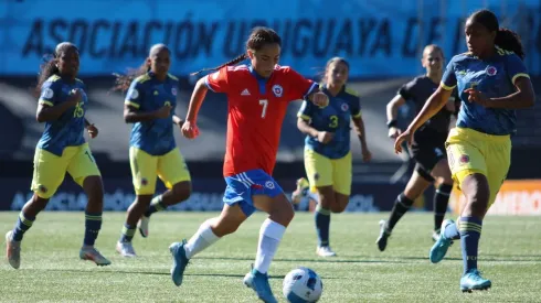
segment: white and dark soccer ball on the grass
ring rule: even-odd
[[[309,268],[294,269],[284,279],[284,296],[290,303],[317,302],[322,291],[321,279]]]

